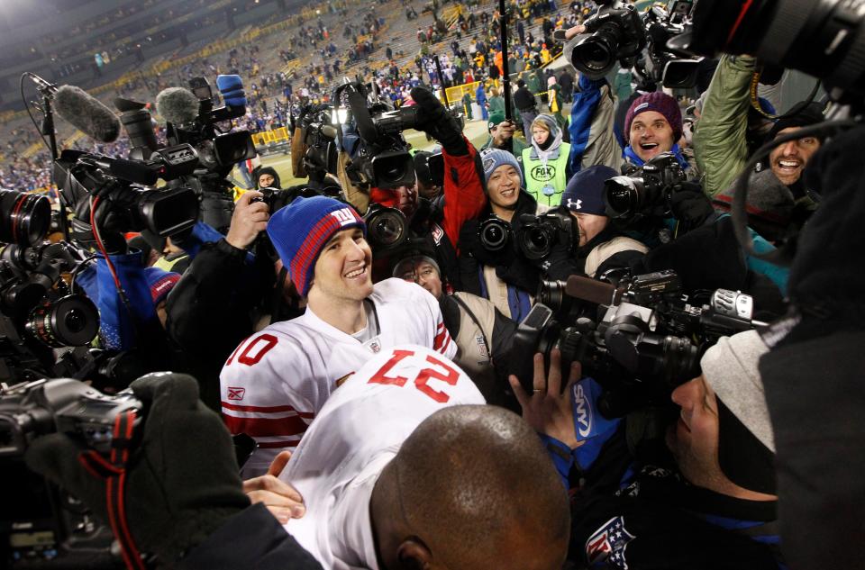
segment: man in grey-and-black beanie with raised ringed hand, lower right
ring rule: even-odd
[[[767,350],[755,330],[709,348],[700,362],[703,375],[679,385],[671,396],[681,409],[667,436],[676,471],[634,465],[618,493],[598,486],[581,489],[572,502],[572,561],[637,569],[774,570],[782,564],[775,526],[775,443],[757,370]],[[605,453],[611,451],[594,439],[612,441],[615,430],[580,435],[583,426],[606,420],[596,416],[596,402],[582,404],[587,417],[580,419],[571,404],[580,368],[574,365],[560,394],[559,366],[554,352],[544,375],[543,360],[536,357],[533,394],[513,375],[511,386],[526,421],[546,434],[542,438],[560,475],[567,478],[573,466],[591,474],[593,466],[610,460]]]

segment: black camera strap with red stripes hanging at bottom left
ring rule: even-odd
[[[144,570],[141,552],[135,546],[126,522],[126,465],[129,462],[134,423],[134,410],[123,412],[114,418],[110,459],[105,459],[96,450],[90,450],[79,455],[78,460],[90,475],[105,480],[108,523],[114,538],[120,543],[123,562],[130,570]]]

